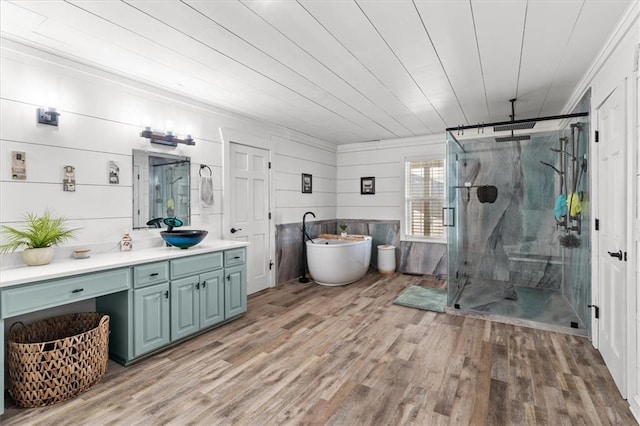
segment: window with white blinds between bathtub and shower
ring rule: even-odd
[[[444,239],[442,208],[446,201],[444,159],[412,160],[405,163],[405,235]]]

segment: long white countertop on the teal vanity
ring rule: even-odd
[[[177,259],[197,254],[246,247],[248,245],[249,243],[241,241],[217,240],[198,244],[185,250],[177,247],[157,247],[142,250],[136,250],[134,248],[131,251],[94,254],[88,259],[61,260],[43,266],[21,266],[0,270],[0,288],[141,263]]]

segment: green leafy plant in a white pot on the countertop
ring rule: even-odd
[[[7,242],[0,245],[0,252],[7,253],[25,247],[22,260],[29,266],[51,263],[53,246],[73,238],[79,229],[69,228],[66,218],[55,217],[49,209],[42,216],[26,213],[24,220],[26,224],[23,230],[2,226]]]

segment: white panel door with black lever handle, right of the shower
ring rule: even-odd
[[[598,109],[598,345],[618,390],[626,398],[626,139],[624,88]]]

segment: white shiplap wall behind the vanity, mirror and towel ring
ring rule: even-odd
[[[18,224],[24,212],[47,206],[70,218],[82,230],[57,257],[79,246],[116,250],[122,232],[132,228],[133,149],[191,157],[192,227],[209,230],[208,238],[224,237],[224,135],[233,132],[221,129],[242,129],[235,142],[270,141],[276,224],[298,221],[308,207],[316,207],[321,218],[335,217],[333,145],[13,41],[2,40],[1,55],[0,224]],[[36,109],[52,102],[61,113],[60,126],[37,124]],[[148,120],[156,130],[166,130],[171,121],[175,133],[188,130],[196,145],[152,146],[139,136]],[[12,151],[26,153],[26,181],[11,179]],[[119,163],[118,185],[108,183],[109,160]],[[209,165],[214,176],[216,203],[207,212],[197,202],[200,164]],[[62,190],[64,165],[76,167],[76,192]],[[314,175],[310,196],[300,193],[301,173]],[[161,244],[155,230],[136,230],[132,237],[134,248]],[[15,254],[0,260],[2,267],[21,263]]]

